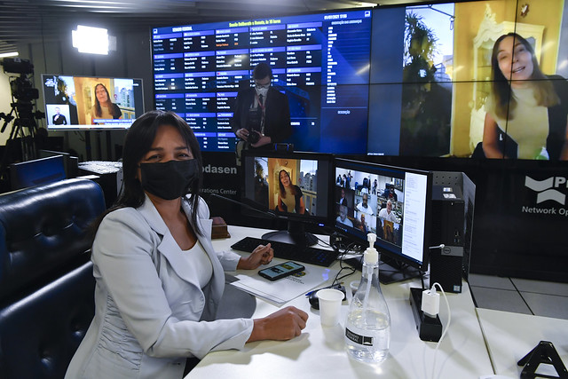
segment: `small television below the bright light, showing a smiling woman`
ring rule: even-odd
[[[144,113],[141,79],[42,74],[48,130],[128,129]]]

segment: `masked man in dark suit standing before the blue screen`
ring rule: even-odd
[[[272,69],[259,63],[253,71],[255,87],[239,91],[233,107],[231,127],[237,138],[237,157],[243,148],[258,148],[290,137],[288,98],[271,86]]]

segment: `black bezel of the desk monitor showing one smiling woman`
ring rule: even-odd
[[[246,197],[247,191],[245,190],[247,187],[246,183],[246,168],[245,162],[248,158],[254,157],[266,157],[266,158],[289,158],[289,159],[297,159],[297,160],[312,160],[323,162],[327,165],[327,170],[329,175],[327,175],[325,191],[327,192],[327,207],[326,212],[327,215],[325,217],[313,216],[313,215],[298,215],[296,213],[284,213],[280,211],[276,211],[275,209],[270,209],[270,207],[266,207],[262,204],[259,204],[252,199]],[[301,222],[305,225],[319,225],[319,226],[331,226],[331,212],[333,210],[332,203],[330,200],[330,191],[332,185],[332,175],[331,170],[333,170],[333,154],[327,153],[312,153],[312,152],[280,152],[274,150],[263,150],[263,149],[248,149],[242,151],[241,156],[241,175],[240,175],[240,182],[241,182],[241,202],[253,209],[260,210],[265,212],[271,217],[280,218],[280,219],[288,219],[291,222]],[[318,192],[321,189],[318,187]]]

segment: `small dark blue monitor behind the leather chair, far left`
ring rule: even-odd
[[[63,161],[63,155],[55,155],[13,163],[10,165],[12,190],[46,185],[67,178]]]

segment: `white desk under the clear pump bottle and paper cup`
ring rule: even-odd
[[[230,245],[246,236],[261,236],[262,229],[230,226],[232,238],[214,241],[218,250],[230,249]],[[338,265],[338,264],[335,264]],[[338,268],[338,267],[336,267]],[[350,280],[359,280],[356,272]],[[331,283],[328,283],[331,284]],[[430,379],[432,358],[436,343],[420,340],[408,301],[409,288],[420,287],[418,280],[382,286],[390,309],[390,356],[381,366],[362,364],[347,357],[343,350],[344,316],[348,306],[342,306],[341,326],[322,328],[319,311],[310,307],[305,296],[297,297],[287,305],[308,312],[310,319],[301,336],[287,342],[262,341],[247,343],[243,351],[215,351],[209,353],[187,375],[195,378],[413,378]],[[436,378],[478,378],[493,374],[493,368],[469,287],[464,283],[463,293],[448,295],[452,309],[452,325],[438,349]],[[446,304],[440,302],[440,317],[446,324]],[[256,299],[253,318],[266,316],[279,308]],[[371,376],[373,375],[373,376]]]

